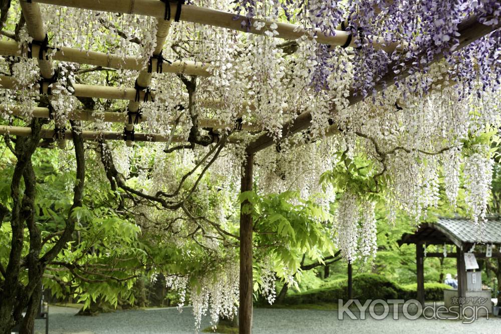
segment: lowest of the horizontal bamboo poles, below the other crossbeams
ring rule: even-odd
[[[9,125],[0,125],[0,135],[11,135],[11,136],[30,136],[32,133],[32,129],[29,127],[19,127],[19,126],[9,126]],[[90,131],[83,130],[82,136],[86,140],[124,140],[123,133],[115,132],[115,131]],[[54,138],[55,131],[50,129],[42,129],[41,131],[42,138]],[[72,139],[72,133],[70,130],[65,131],[65,139]],[[168,142],[168,135],[160,135],[160,134],[150,134],[150,133],[135,133],[134,141],[138,142]],[[229,137],[226,140],[230,144],[240,143],[240,138]],[[172,142],[182,143],[185,142],[179,136],[173,136]]]

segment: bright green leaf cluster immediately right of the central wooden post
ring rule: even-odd
[[[255,222],[256,257],[272,258],[278,277],[298,272],[304,254],[314,261],[322,261],[324,253],[333,254],[328,229],[332,215],[313,201],[301,199],[298,192],[260,196],[247,191],[239,195],[239,200],[243,212],[251,214]],[[258,289],[260,268],[256,270]]]

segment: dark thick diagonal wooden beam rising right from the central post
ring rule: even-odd
[[[495,31],[497,28],[499,28],[499,26],[501,26],[501,24],[499,24],[497,27],[482,25],[477,21],[476,17],[470,17],[465,19],[458,25],[458,33],[460,34],[460,36],[458,37],[459,46],[457,47],[456,50],[459,50],[469,45],[470,43],[482,38],[483,36],[491,33],[492,31]],[[443,54],[436,55],[430,64],[435,63],[441,59],[443,59]],[[395,74],[393,72],[392,70],[393,65],[394,64],[392,63],[388,66],[389,70],[388,73],[374,87],[378,92],[382,91],[385,87],[389,87],[395,84],[394,79],[397,77],[398,74]],[[407,68],[409,68],[410,66],[411,64],[406,64]],[[408,77],[409,75],[410,74],[408,72],[405,72],[401,73],[400,77],[403,79]],[[350,93],[350,96],[348,97],[348,106],[353,106],[364,99],[361,94],[355,94],[355,93],[356,92]],[[336,109],[333,108],[331,110],[331,113],[335,112]],[[282,126],[281,140],[295,133],[298,133],[299,131],[310,128],[311,122],[312,122],[312,115],[309,112],[303,113],[299,115],[296,119],[286,122]],[[267,147],[270,147],[274,143],[275,143],[274,139],[270,137],[269,134],[264,134],[248,145],[247,152],[257,153],[261,150],[264,150]]]

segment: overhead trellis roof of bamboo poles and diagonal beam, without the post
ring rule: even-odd
[[[95,11],[113,12],[113,13],[123,13],[123,14],[137,14],[145,15],[157,18],[158,33],[157,33],[157,47],[154,54],[158,54],[163,47],[163,42],[168,33],[168,28],[170,27],[170,22],[165,22],[163,20],[163,13],[165,10],[165,4],[159,0],[86,0],[85,2],[79,0],[34,0],[34,2],[27,2],[26,0],[20,0],[21,7],[23,10],[23,15],[27,21],[27,28],[30,36],[35,40],[42,40],[45,38],[45,28],[43,20],[40,13],[40,8],[37,3],[44,3],[50,5],[59,5],[65,7],[81,8]],[[171,11],[175,12],[176,4],[171,3]],[[255,30],[254,27],[247,31],[246,27],[242,27],[239,20],[234,20],[234,14],[217,11],[208,8],[197,7],[193,5],[183,5],[182,12],[180,15],[180,20],[185,22],[197,23],[202,25],[209,25],[214,27],[226,28],[234,31],[248,32],[252,34],[263,34],[263,30]],[[272,22],[266,22],[267,25],[271,25]],[[276,23],[279,32],[278,37],[286,40],[295,40],[305,35],[306,31],[299,26],[286,24],[286,23]],[[468,45],[469,43],[485,36],[491,31],[495,30],[497,27],[487,27],[477,22],[476,18],[469,18],[463,21],[459,25],[460,33],[460,45],[459,48]],[[344,45],[348,38],[349,33],[345,31],[337,31],[335,36],[325,36],[320,31],[317,32],[317,41],[323,44],[329,44],[331,46],[342,46]],[[387,44],[380,38],[375,38],[376,48],[381,48],[385,51],[392,51],[397,47],[396,43]],[[350,46],[356,46],[356,37],[351,41]],[[34,45],[34,52],[37,52],[38,46]],[[5,56],[18,56],[23,57],[26,55],[26,47],[16,43],[16,42],[0,42],[0,55]],[[437,56],[434,61],[438,61],[443,58],[443,55]],[[61,50],[56,51],[53,56],[54,60],[62,60],[68,62],[76,62],[79,64],[88,64],[94,66],[103,66],[109,68],[124,68],[130,70],[141,71],[138,76],[138,83],[149,84],[151,79],[151,73],[146,73],[144,67],[140,62],[140,58],[137,57],[119,57],[117,55],[108,55],[100,52],[87,52],[80,51],[75,48],[61,48]],[[153,59],[153,62],[155,60]],[[173,61],[172,65],[165,66],[165,72],[172,73],[184,73],[188,75],[199,75],[199,76],[209,76],[210,75],[210,64],[202,64],[189,61]],[[153,63],[154,64],[154,63]],[[44,78],[49,77],[49,73],[52,75],[53,69],[50,61],[39,60],[39,65],[41,68],[41,74]],[[155,66],[153,66],[155,68]],[[408,74],[404,74],[404,77]],[[396,77],[392,71],[390,71],[380,83],[376,86],[378,91],[383,89],[383,82],[387,85],[393,84],[393,79]],[[0,77],[0,85],[7,89],[15,89],[14,82],[12,78]],[[44,84],[48,85],[48,84]],[[146,85],[145,85],[146,86]],[[139,107],[138,103],[135,102],[136,90],[132,88],[115,88],[115,87],[104,87],[104,86],[92,86],[92,85],[81,85],[75,84],[75,95],[80,97],[90,97],[90,98],[106,98],[106,99],[123,99],[129,100],[129,110],[136,111]],[[42,87],[44,93],[47,92],[47,87]],[[144,98],[144,92],[140,93],[140,98]],[[355,96],[350,94],[348,97],[349,105],[354,105],[362,100],[360,95]],[[204,102],[201,103],[201,107],[204,107]],[[220,104],[215,101],[206,101],[206,108],[216,108]],[[253,109],[252,104],[242,102],[242,106],[249,106]],[[286,111],[290,108],[285,104]],[[333,110],[334,112],[335,110]],[[82,113],[80,113],[82,115]],[[123,115],[123,114],[122,114]],[[82,116],[83,117],[83,116]],[[105,118],[115,119],[115,116],[109,116],[105,113]],[[285,139],[292,134],[299,131],[306,130],[311,126],[311,114],[303,113],[297,118],[285,123],[282,128],[282,138]],[[203,120],[202,123],[214,124],[209,120]],[[221,127],[226,127],[227,124],[220,125]],[[215,127],[218,127],[215,124]],[[252,127],[247,127],[245,130],[250,130]],[[256,128],[252,128],[256,129]],[[336,125],[330,126],[327,129],[327,135],[338,133]],[[250,143],[247,147],[247,153],[254,154],[260,150],[263,150],[274,144],[274,140],[268,135],[263,134],[261,137],[257,138],[255,141]]]

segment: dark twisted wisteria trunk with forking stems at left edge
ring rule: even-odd
[[[32,333],[35,317],[40,307],[42,293],[42,276],[47,264],[70,241],[75,229],[75,218],[71,212],[82,205],[82,193],[85,179],[84,143],[79,125],[71,122],[75,156],[77,161],[77,180],[74,187],[73,205],[66,219],[66,226],[60,239],[42,257],[41,232],[35,224],[36,176],[32,165],[32,156],[40,143],[40,132],[43,120],[34,118],[31,123],[30,137],[20,137],[11,150],[16,155],[17,162],[11,182],[11,252],[9,263],[2,270],[4,280],[0,281],[0,334],[10,334],[12,328],[20,325],[20,334]],[[24,189],[22,187],[24,181]],[[5,216],[2,208],[2,218]],[[29,232],[29,253],[22,257],[25,226]],[[20,281],[20,272],[28,269],[28,283]],[[3,268],[2,268],[3,269]],[[26,315],[23,317],[23,311]]]

